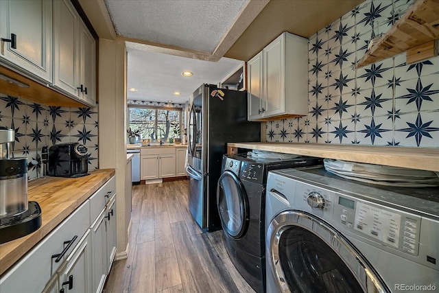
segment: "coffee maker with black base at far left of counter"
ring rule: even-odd
[[[15,132],[0,126],[0,244],[36,231],[41,209],[27,201],[27,159],[11,156]]]

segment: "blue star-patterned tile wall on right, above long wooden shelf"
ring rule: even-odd
[[[368,0],[311,36],[309,113],[267,122],[267,141],[438,147],[439,57],[353,66],[412,3]]]

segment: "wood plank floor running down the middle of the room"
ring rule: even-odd
[[[254,292],[189,213],[188,181],[134,185],[128,259],[112,265],[104,292]]]

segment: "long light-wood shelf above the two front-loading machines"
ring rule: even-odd
[[[228,154],[246,148],[439,172],[439,148],[320,143],[227,143],[227,148]]]

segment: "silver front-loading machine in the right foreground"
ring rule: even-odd
[[[268,173],[267,292],[439,288],[439,189],[383,187],[323,167]]]

